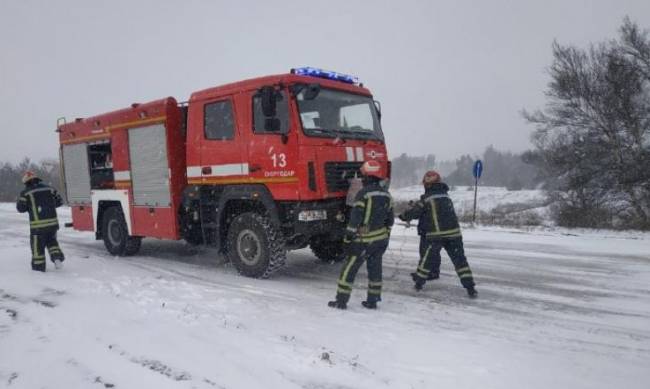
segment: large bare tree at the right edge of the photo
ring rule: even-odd
[[[554,42],[553,58],[547,105],[524,116],[536,125],[536,160],[563,193],[565,224],[593,226],[596,213],[650,228],[648,32],[626,18],[618,41]]]

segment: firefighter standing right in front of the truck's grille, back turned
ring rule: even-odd
[[[388,247],[390,229],[393,226],[393,200],[381,185],[381,165],[377,161],[366,161],[361,165],[363,188],[357,193],[350,221],[345,231],[347,260],[341,270],[336,291],[336,300],[328,305],[346,309],[357,271],[366,261],[368,269],[368,297],[361,304],[376,309],[381,301],[382,255]]]

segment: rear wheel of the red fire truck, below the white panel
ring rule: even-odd
[[[142,238],[129,236],[124,214],[119,207],[110,207],[102,216],[104,246],[112,255],[134,255],[140,250]]]

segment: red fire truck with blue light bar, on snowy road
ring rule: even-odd
[[[144,237],[215,246],[256,278],[287,250],[340,260],[351,179],[369,159],[390,175],[380,119],[356,77],[310,67],[60,119],[71,225],[117,256]]]

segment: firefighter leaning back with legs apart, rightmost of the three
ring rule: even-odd
[[[449,187],[440,182],[440,174],[434,170],[424,174],[422,184],[424,194],[420,200],[398,216],[405,222],[419,219],[420,262],[416,271],[411,273],[415,289],[422,290],[427,280],[440,277],[440,250],[444,248],[468,296],[477,297],[472,270],[463,250],[463,236],[454,204],[447,193]]]

